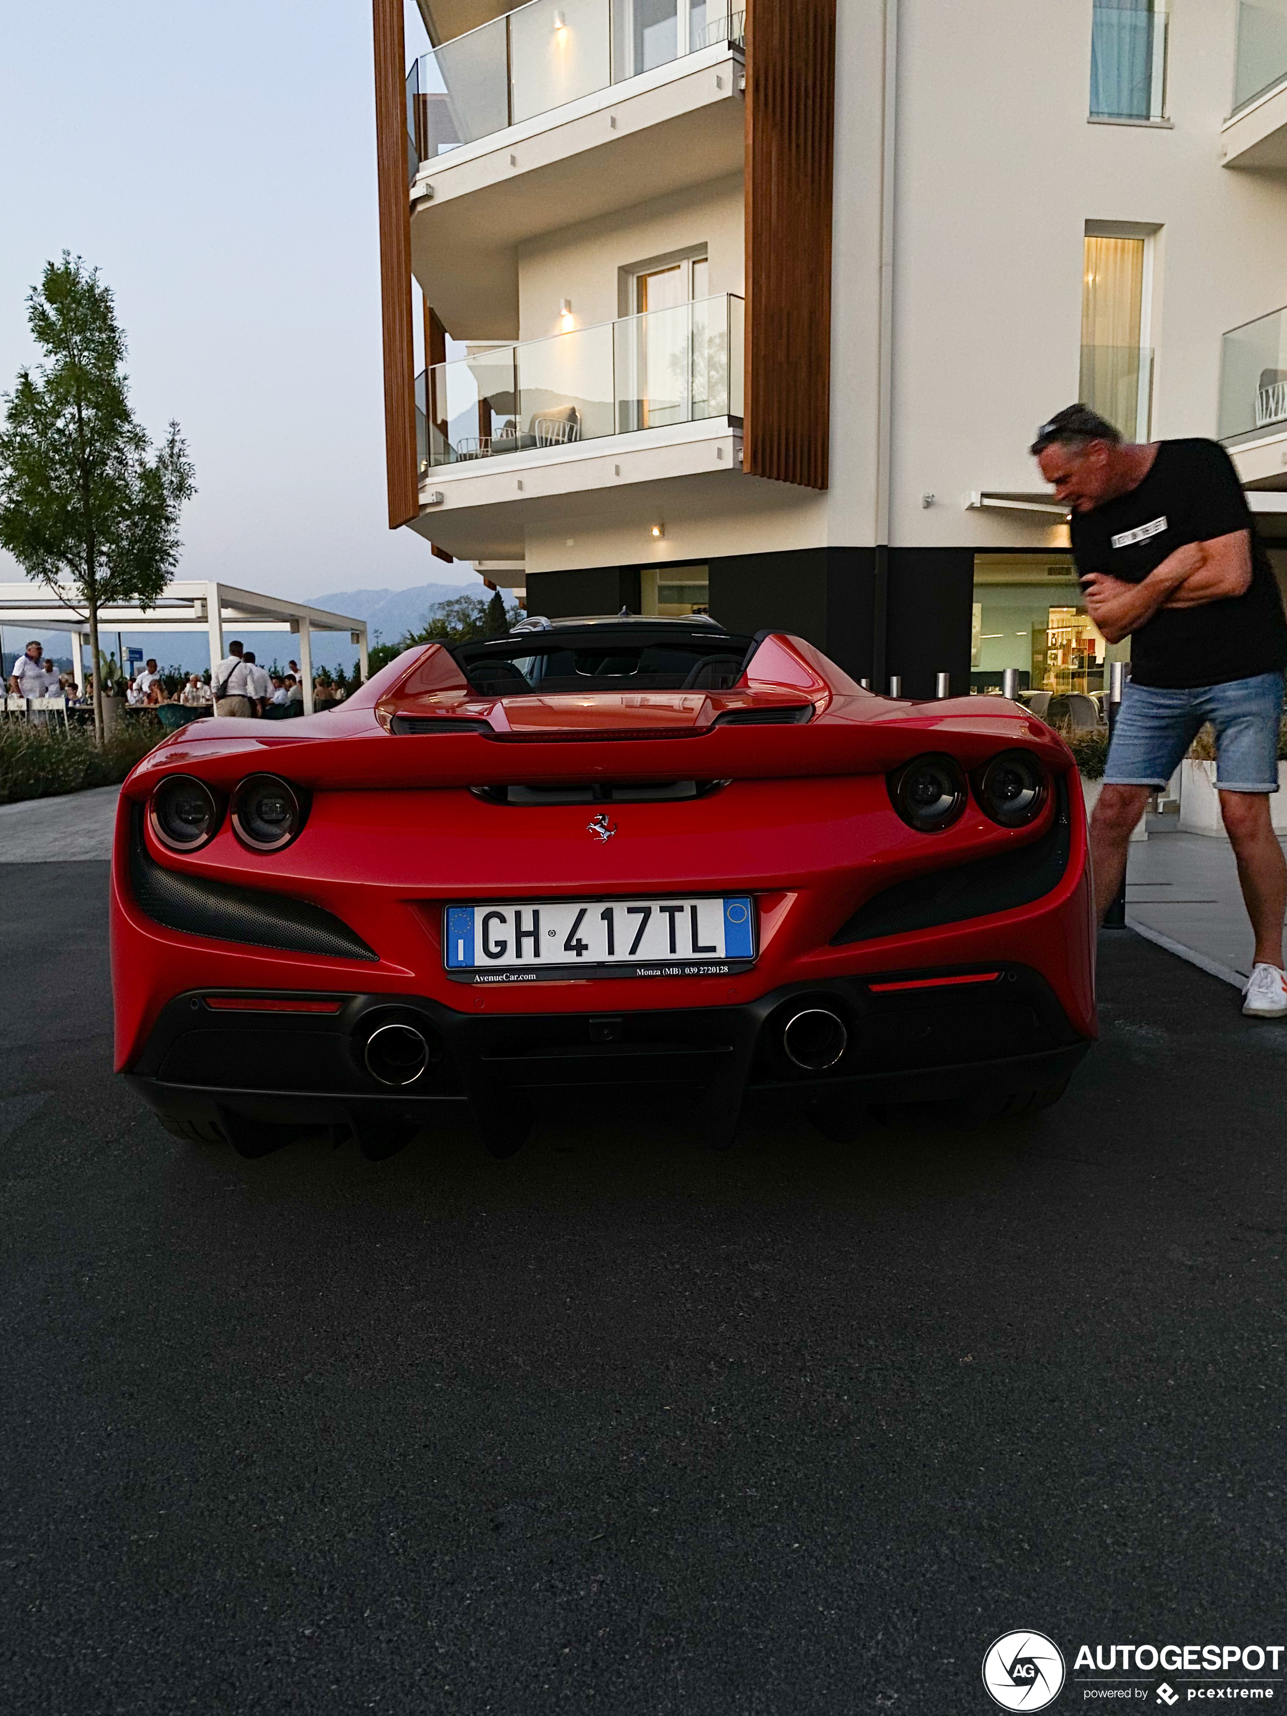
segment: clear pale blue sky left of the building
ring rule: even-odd
[[[0,19],[0,390],[34,357],[29,287],[79,252],[115,290],[142,424],[177,417],[196,462],[178,577],[468,578],[386,523],[369,0]]]

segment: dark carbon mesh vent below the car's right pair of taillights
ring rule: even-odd
[[[832,935],[831,946],[870,942],[877,935],[906,935],[909,930],[932,930],[939,923],[983,918],[990,911],[1031,906],[1059,885],[1071,849],[1067,788],[1059,781],[1054,827],[1040,841],[999,858],[976,858],[951,870],[932,870],[909,882],[896,882],[863,901]]]

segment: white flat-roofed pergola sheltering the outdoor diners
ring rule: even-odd
[[[84,645],[89,619],[84,607],[41,583],[0,583],[0,625],[27,626],[41,631],[72,633],[72,671],[84,688]],[[333,614],[285,595],[259,595],[233,583],[180,578],[166,583],[153,607],[139,602],[113,602],[98,611],[98,640],[110,631],[204,631],[209,638],[209,664],[223,661],[225,635],[242,631],[290,631],[299,637],[299,666],[304,680],[304,709],[312,714],[312,633],[347,631],[357,644],[362,678],[367,676],[367,623],[352,614]]]

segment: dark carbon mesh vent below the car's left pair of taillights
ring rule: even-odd
[[[130,837],[130,887],[139,911],[166,930],[209,935],[218,942],[278,947],[329,959],[379,959],[347,923],[305,899],[230,887],[199,875],[178,875],[156,863],[142,843],[142,810]]]

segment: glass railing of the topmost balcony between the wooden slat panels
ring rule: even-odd
[[[407,74],[410,177],[420,161],[625,82],[656,65],[743,45],[729,0],[530,0],[422,53]]]

